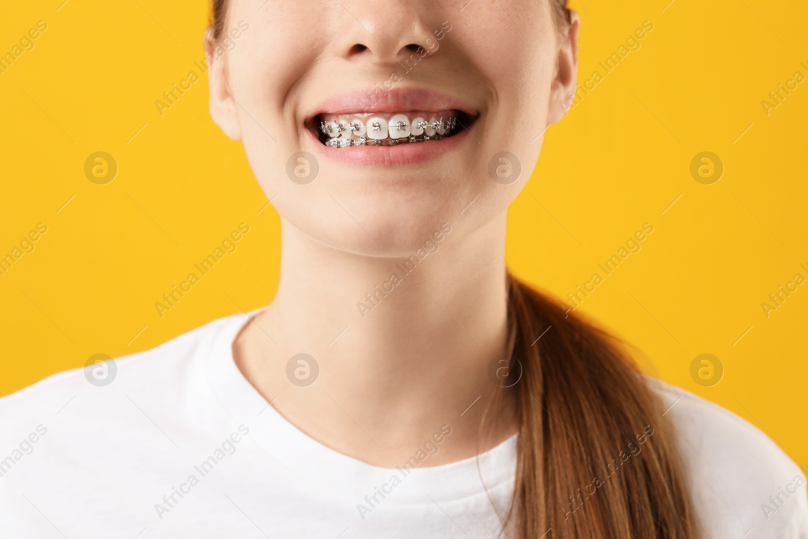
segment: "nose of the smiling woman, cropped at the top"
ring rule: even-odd
[[[337,53],[346,60],[392,65],[413,54],[423,58],[437,50],[424,14],[416,9],[430,6],[435,0],[336,1],[342,8]]]

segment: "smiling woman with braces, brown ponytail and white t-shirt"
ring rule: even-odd
[[[4,536],[808,537],[768,438],[507,273],[578,31],[562,0],[215,0],[278,293],[2,399]]]

